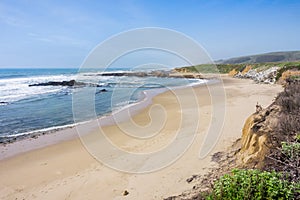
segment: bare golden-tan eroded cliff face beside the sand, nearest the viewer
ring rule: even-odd
[[[238,161],[241,165],[261,167],[269,147],[272,135],[278,123],[280,107],[274,103],[266,109],[258,109],[245,122],[242,130],[241,150]]]

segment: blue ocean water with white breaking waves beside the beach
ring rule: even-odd
[[[90,69],[78,73],[78,69],[0,69],[0,139],[74,125],[72,93],[76,89],[91,87],[30,87],[32,84],[78,80],[79,76],[81,82],[96,82],[100,87],[95,89],[95,112],[101,117],[143,99],[143,91],[204,82],[196,79],[99,76],[99,71]],[[105,73],[121,71],[130,69],[113,68]],[[87,114],[80,117],[80,121],[90,118]]]

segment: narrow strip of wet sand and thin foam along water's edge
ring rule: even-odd
[[[170,89],[178,90],[188,87],[199,87],[201,85],[214,84],[216,82],[216,80],[214,79],[199,80],[201,80],[201,82],[199,81],[185,86],[174,86]],[[77,129],[85,128],[88,130],[86,131],[86,134],[88,134],[89,132],[92,132],[93,130],[97,129],[98,126],[111,126],[115,125],[116,123],[126,121],[130,119],[130,117],[138,114],[147,106],[149,106],[152,103],[152,99],[155,96],[168,92],[170,89],[155,88],[144,90],[142,91],[143,97],[141,99],[137,100],[134,103],[113,110],[109,113],[106,113],[104,115],[97,116],[96,119],[66,124],[62,126],[48,127],[25,133],[19,133],[12,136],[1,136],[0,161],[32,150],[44,148],[50,145],[58,144],[60,142],[79,138],[80,135]],[[125,116],[128,112],[130,113],[130,116]],[[115,121],[116,119],[118,119],[119,121]],[[19,146],[21,146],[22,148],[20,148]]]

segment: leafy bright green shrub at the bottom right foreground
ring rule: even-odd
[[[276,172],[233,170],[217,180],[206,199],[291,199],[296,184]]]

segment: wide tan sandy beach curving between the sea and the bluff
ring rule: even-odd
[[[83,136],[82,141],[90,144],[90,148],[99,145],[97,142],[94,144],[94,141],[99,141],[98,133],[102,131],[118,148],[137,154],[151,154],[177,141],[180,144],[181,140],[185,140],[185,135],[194,134],[195,138],[189,148],[173,163],[148,173],[114,170],[107,165],[118,166],[117,152],[105,151],[103,144],[100,150],[104,148],[104,151],[100,152],[100,156],[107,162],[99,162],[87,151],[87,145],[76,138],[76,129],[70,128],[18,145],[0,147],[0,199],[163,199],[191,189],[186,179],[193,174],[204,174],[216,166],[217,163],[211,161],[211,155],[227,150],[241,137],[244,122],[255,112],[256,103],[266,107],[282,90],[276,84],[255,84],[251,80],[227,76],[222,77],[222,80],[224,85],[217,83],[210,87],[225,89],[224,126],[219,138],[215,138],[216,145],[205,158],[200,159],[199,152],[215,121],[211,94],[205,85],[193,89],[194,97],[191,97],[190,89],[177,89],[176,92],[155,96],[149,106],[118,125],[101,129],[96,126],[80,128],[89,132]],[[135,129],[137,132],[145,134],[139,135],[143,139],[126,133],[133,124],[139,127]],[[194,126],[196,130],[191,133]],[[177,140],[174,138],[178,129],[182,137]],[[150,137],[147,133],[154,135]],[[13,148],[17,147],[18,151],[14,153]],[[143,163],[131,160],[127,163],[129,167],[124,167],[123,171],[134,171],[153,164],[150,158]],[[123,164],[121,162],[120,165]],[[126,196],[123,195],[125,190],[128,191]]]

